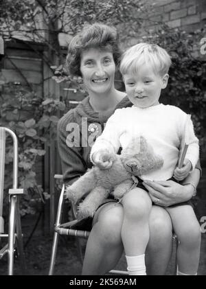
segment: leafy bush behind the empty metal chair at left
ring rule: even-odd
[[[10,97],[12,95],[12,97]],[[36,182],[36,163],[44,156],[44,146],[56,138],[58,111],[64,111],[65,104],[52,98],[42,100],[34,91],[23,86],[4,84],[0,99],[0,126],[14,131],[19,141],[19,187],[25,190],[21,199],[21,215],[36,213],[41,201],[49,195]],[[31,118],[32,117],[32,118]],[[12,187],[13,143],[6,141],[5,192]],[[5,194],[8,198],[8,194]]]

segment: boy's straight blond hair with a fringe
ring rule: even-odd
[[[130,47],[122,56],[120,71],[126,73],[137,73],[142,65],[149,64],[155,73],[163,76],[168,73],[171,58],[165,49],[152,43],[139,43]]]

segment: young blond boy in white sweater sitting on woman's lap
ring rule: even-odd
[[[139,43],[128,49],[120,65],[126,93],[133,106],[117,109],[108,119],[102,135],[91,149],[91,160],[106,169],[112,165],[112,154],[130,141],[145,137],[154,152],[163,158],[158,170],[141,175],[146,180],[166,181],[172,177],[183,180],[198,161],[198,139],[190,121],[190,136],[181,169],[177,167],[179,148],[183,139],[187,114],[176,106],[159,103],[161,89],[168,84],[170,56],[158,45]],[[109,154],[108,154],[109,153]],[[140,182],[141,183],[141,182]],[[128,273],[146,275],[144,253],[149,240],[148,218],[152,201],[146,188],[137,185],[122,198],[124,220],[122,242],[126,253]],[[178,275],[196,275],[199,262],[201,231],[190,203],[165,208],[170,214],[179,239],[177,249]]]

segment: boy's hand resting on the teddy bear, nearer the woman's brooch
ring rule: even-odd
[[[108,150],[99,150],[93,154],[92,160],[100,169],[106,170],[113,165],[114,158]]]

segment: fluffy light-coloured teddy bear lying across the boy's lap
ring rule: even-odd
[[[133,186],[132,176],[141,176],[163,165],[163,159],[154,153],[144,137],[139,139],[138,150],[135,143],[137,145],[137,139],[121,154],[113,155],[113,165],[109,169],[93,166],[67,187],[66,198],[75,204],[88,194],[78,206],[78,218],[92,217],[110,193],[115,199],[121,199]]]

